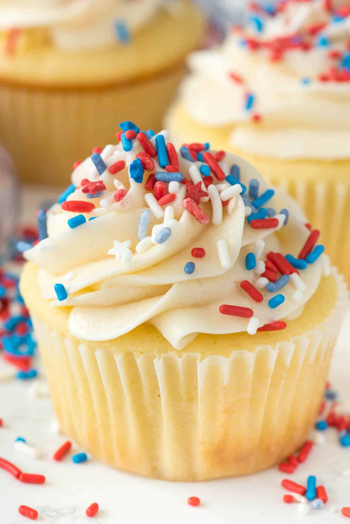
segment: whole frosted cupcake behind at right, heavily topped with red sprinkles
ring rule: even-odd
[[[233,151],[287,190],[350,279],[348,2],[256,9],[245,30],[192,54],[166,124],[176,142]]]

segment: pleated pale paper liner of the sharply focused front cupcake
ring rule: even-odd
[[[314,330],[229,358],[136,358],[34,317],[63,432],[110,465],[172,481],[253,473],[281,461],[307,439],[323,397],[347,300],[344,279],[333,275],[335,307]]]

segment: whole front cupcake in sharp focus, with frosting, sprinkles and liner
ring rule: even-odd
[[[139,475],[263,470],[318,414],[343,278],[298,204],[246,160],[197,143],[194,161],[166,131],[121,126],[129,142],[74,170],[24,253],[57,418]]]

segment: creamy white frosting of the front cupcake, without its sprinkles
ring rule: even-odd
[[[161,134],[167,139],[167,132]],[[155,144],[155,137],[151,142]],[[246,220],[245,204],[240,195],[233,196],[227,206],[222,207],[220,203],[222,220],[218,216],[220,213],[213,213],[217,191],[233,186],[213,177],[208,188],[211,200],[202,196],[200,202],[209,223],[201,224],[184,209],[183,200],[189,198],[190,193],[187,194],[187,186],[180,183],[179,191],[174,193],[176,198],[165,208],[164,217],[157,219],[150,213],[148,249],[136,247],[141,213],[149,210],[145,203],[145,195],[149,194],[145,189],[149,173],[145,171],[142,183],[130,177],[130,165],[139,152],[143,152],[143,148],[138,139],[133,140],[129,152],[124,151],[121,144],[106,146],[101,153],[106,166],[101,177],[91,158],[84,160],[73,171],[72,181],[77,188],[63,207],[70,205],[70,201],[93,203],[95,208],[84,216],[86,219],[97,217],[96,220],[70,229],[67,221],[78,212],[64,211],[60,204],[54,204],[48,211],[49,237],[25,252],[26,259],[40,268],[38,281],[43,296],[52,301],[53,307],[72,307],[68,329],[73,335],[91,341],[111,340],[144,322],[151,322],[174,348],[182,349],[198,333],[247,330],[249,319],[220,313],[222,304],[253,309],[262,326],[298,311],[309,300],[321,277],[320,260],[302,272],[306,288],[300,301],[293,299],[296,289],[291,282],[281,291],[285,302],[276,309],[268,305],[275,293],[263,289],[264,301],[258,303],[240,288],[243,280],[254,284],[260,278],[255,270],[248,270],[245,265],[245,257],[256,249],[257,241],[264,238],[265,245],[260,242],[260,252],[263,250],[261,258],[265,260],[270,250],[298,256],[308,238],[305,218],[297,204],[277,190],[266,206],[277,210],[287,208],[288,224],[282,227],[285,215],[277,215],[278,227],[254,229]],[[196,171],[193,166],[203,166],[202,162],[185,160],[179,154],[178,159],[179,171],[188,179]],[[121,160],[125,161],[125,168],[111,174],[110,166]],[[165,171],[159,167],[157,157],[154,162],[152,172]],[[267,189],[257,171],[242,158],[226,154],[220,161],[226,175],[234,164],[240,169],[243,184],[248,185],[250,179],[256,179],[260,193]],[[106,188],[103,195],[86,198],[79,187],[86,178],[103,182]],[[177,185],[173,185],[177,190]],[[127,190],[119,202],[111,196],[116,188]],[[172,188],[168,185],[168,189]],[[170,237],[160,244],[152,242],[165,227],[170,229]],[[218,241],[227,246],[225,261],[218,253]],[[192,257],[195,247],[205,249],[203,258]],[[118,254],[119,249],[125,255],[122,259],[112,256]],[[192,274],[184,271],[189,261],[195,263]],[[55,283],[65,286],[67,299],[61,302],[56,299]]]

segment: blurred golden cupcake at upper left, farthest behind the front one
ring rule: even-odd
[[[127,117],[161,129],[203,34],[188,0],[0,6],[0,140],[25,182],[61,185]]]

